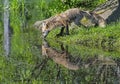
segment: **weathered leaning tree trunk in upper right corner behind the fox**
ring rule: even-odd
[[[93,12],[100,14],[108,24],[117,22],[120,20],[120,0],[108,0]]]

